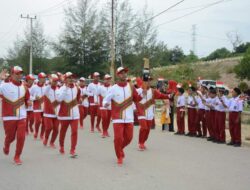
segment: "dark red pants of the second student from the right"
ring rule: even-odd
[[[215,139],[221,142],[226,141],[226,113],[216,111],[216,130],[215,130]]]

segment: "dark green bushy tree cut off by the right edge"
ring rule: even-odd
[[[241,80],[247,79],[250,80],[250,48],[244,54],[243,59],[238,65],[235,66],[234,71],[236,76]]]

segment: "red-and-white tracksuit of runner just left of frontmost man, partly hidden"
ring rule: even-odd
[[[99,87],[99,97],[100,97],[100,111],[101,111],[101,117],[102,117],[102,131],[103,131],[103,137],[108,137],[108,128],[111,121],[111,105],[108,108],[103,107],[102,101],[108,94],[108,91],[110,90],[111,85],[104,84]]]

